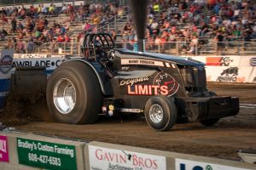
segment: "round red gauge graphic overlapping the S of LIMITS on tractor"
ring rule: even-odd
[[[154,85],[160,86],[158,94],[172,96],[177,93],[179,83],[169,74],[165,72],[159,72],[154,77]]]

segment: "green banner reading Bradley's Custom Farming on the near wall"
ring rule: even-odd
[[[19,163],[46,169],[77,169],[75,146],[17,138]]]

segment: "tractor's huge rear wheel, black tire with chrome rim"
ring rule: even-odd
[[[61,64],[49,77],[49,112],[57,122],[91,124],[102,111],[102,89],[95,72],[80,61]]]

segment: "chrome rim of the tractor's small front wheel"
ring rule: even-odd
[[[150,120],[154,123],[159,123],[164,117],[164,111],[162,107],[158,104],[151,105],[149,108]]]

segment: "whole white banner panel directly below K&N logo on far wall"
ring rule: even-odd
[[[250,82],[253,67],[206,66],[208,82]]]

